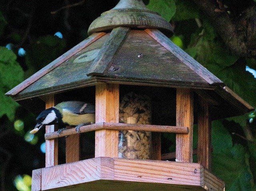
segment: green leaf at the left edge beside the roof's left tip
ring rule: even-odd
[[[24,71],[16,58],[12,51],[0,47],[0,117],[6,114],[9,120],[14,120],[18,104],[4,94],[22,82],[24,77]]]

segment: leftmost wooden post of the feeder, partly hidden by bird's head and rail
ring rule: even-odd
[[[45,107],[50,108],[55,105],[54,95],[45,96]],[[54,132],[54,125],[47,125],[45,132]],[[50,167],[58,165],[58,139],[45,140],[46,153],[45,153],[45,166]]]

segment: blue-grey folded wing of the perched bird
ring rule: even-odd
[[[66,101],[55,106],[57,109],[66,109],[72,113],[81,115],[86,113],[95,113],[95,106],[82,101]]]

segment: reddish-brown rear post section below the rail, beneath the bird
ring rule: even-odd
[[[80,159],[80,135],[73,134],[66,138],[66,163]]]

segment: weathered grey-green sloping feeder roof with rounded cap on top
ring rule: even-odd
[[[114,15],[121,18],[120,14],[127,14],[130,16],[128,18],[132,18],[138,17],[138,12],[144,14],[143,19],[135,19],[136,21],[132,22],[122,17],[113,24]],[[220,103],[219,100],[224,100],[221,104],[230,110],[228,116],[243,114],[253,109],[225,87],[220,79],[172,43],[164,35],[172,33],[170,24],[154,23],[153,16],[159,21],[160,16],[148,10],[141,0],[121,0],[115,8],[103,13],[92,23],[89,28],[89,33],[92,34],[87,39],[6,95],[12,96],[14,100],[28,100],[107,82],[192,88],[198,95],[212,102]],[[106,17],[113,17],[112,23],[109,20],[102,22]],[[148,21],[147,25],[145,21]]]

